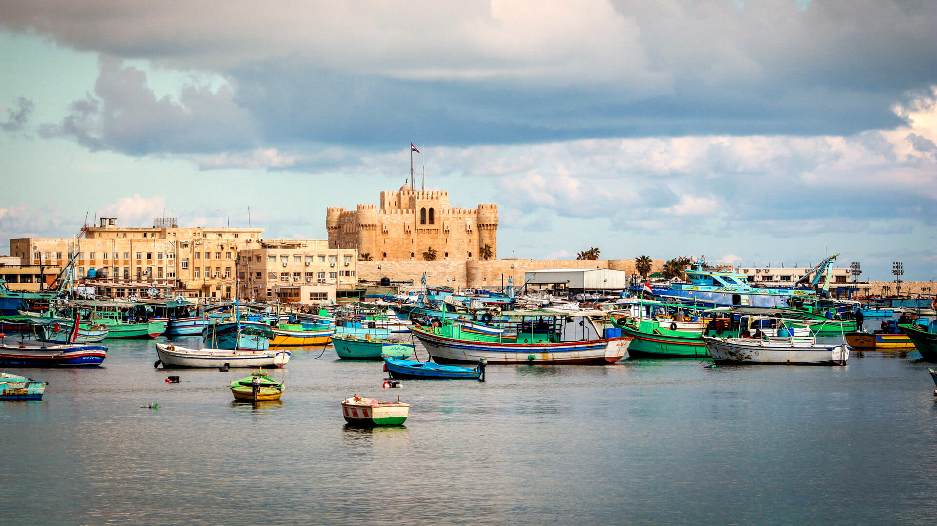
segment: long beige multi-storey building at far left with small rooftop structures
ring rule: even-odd
[[[93,273],[97,281],[169,285],[173,294],[187,297],[231,298],[237,254],[259,247],[262,233],[263,228],[180,228],[174,218],[126,227],[115,217],[102,217],[97,226],[82,227],[77,239],[24,238],[9,244],[11,256],[33,265],[62,269],[77,256],[78,275]]]

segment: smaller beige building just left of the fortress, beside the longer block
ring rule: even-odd
[[[238,256],[238,297],[309,303],[337,300],[358,282],[358,252],[327,240],[264,240]]]

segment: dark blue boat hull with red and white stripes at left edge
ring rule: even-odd
[[[8,367],[97,367],[107,352],[104,345],[0,339],[0,365]]]

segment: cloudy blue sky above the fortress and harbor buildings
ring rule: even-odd
[[[930,0],[0,0],[0,254],[123,226],[325,239],[409,178],[498,257],[937,278]],[[86,219],[87,218],[87,219]]]

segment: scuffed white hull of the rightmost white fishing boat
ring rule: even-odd
[[[849,347],[828,345],[813,338],[788,337],[754,340],[704,336],[706,349],[716,363],[781,365],[846,365]]]

